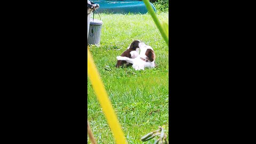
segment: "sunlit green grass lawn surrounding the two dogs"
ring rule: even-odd
[[[90,51],[127,141],[142,143],[143,135],[163,125],[168,134],[169,47],[154,21],[149,14],[100,14],[100,17],[101,45],[90,46]],[[168,22],[168,13],[158,13],[157,17]],[[99,19],[96,14],[94,18]],[[117,55],[135,39],[153,47],[156,68],[135,71],[132,67],[115,67]],[[115,143],[89,78],[87,89],[87,116],[95,139],[98,143]],[[90,143],[88,137],[87,141]]]

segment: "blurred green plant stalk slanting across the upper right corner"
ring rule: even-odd
[[[164,32],[164,29],[161,25],[161,23],[159,22],[158,18],[156,17],[156,13],[154,12],[153,8],[151,7],[150,3],[149,3],[149,0],[142,0],[146,7],[147,7],[147,10],[149,12],[149,14],[151,15],[151,17],[153,18],[157,28],[159,29],[162,37],[164,38],[164,41],[166,42],[166,44],[169,46],[169,38],[168,36],[166,35],[166,33]]]

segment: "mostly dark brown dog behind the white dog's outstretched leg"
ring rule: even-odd
[[[139,55],[139,43],[140,41],[135,40],[131,43],[131,45],[127,48],[126,51],[124,51],[121,56],[127,57],[131,59],[135,59]],[[127,62],[125,60],[117,60],[116,67],[119,68],[122,65],[130,65],[130,62]]]

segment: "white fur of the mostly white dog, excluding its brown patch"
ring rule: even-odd
[[[154,61],[143,61],[141,60],[141,58],[143,59],[147,59],[147,56],[145,55],[147,49],[152,49],[151,46],[146,45],[145,43],[139,43],[139,49],[140,49],[140,53],[137,51],[132,51],[130,52],[132,55],[132,58],[127,58],[127,57],[121,57],[121,56],[117,56],[116,59],[117,60],[125,60],[129,63],[132,63],[132,67],[135,70],[144,70],[146,67],[148,68],[154,68],[155,67],[155,60]],[[153,50],[154,51],[154,50]]]

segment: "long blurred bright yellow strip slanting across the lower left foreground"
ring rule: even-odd
[[[117,144],[124,144],[126,143],[124,133],[121,129],[121,125],[118,122],[117,116],[115,114],[115,111],[111,105],[111,102],[108,98],[107,92],[105,90],[105,87],[101,81],[99,72],[94,64],[92,55],[87,47],[87,73],[89,76],[89,79],[91,81],[93,90],[95,92],[95,95],[97,96],[100,106],[103,110],[103,113],[105,114],[107,118],[107,122],[109,124],[110,130],[113,132],[115,141]]]

